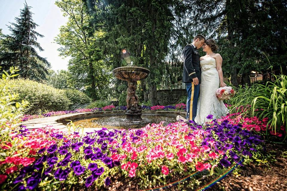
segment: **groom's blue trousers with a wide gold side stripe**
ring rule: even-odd
[[[199,96],[199,84],[194,85],[193,82],[186,82],[187,103],[186,103],[186,119],[194,121],[196,117],[197,102]]]

